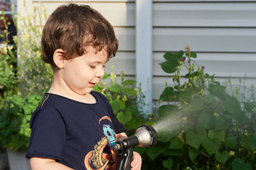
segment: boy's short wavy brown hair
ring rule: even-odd
[[[104,49],[108,57],[115,56],[118,49],[113,26],[99,12],[88,5],[67,4],[59,6],[50,15],[42,33],[42,57],[54,66],[52,56],[62,49],[65,59],[86,53],[92,45],[98,51]]]

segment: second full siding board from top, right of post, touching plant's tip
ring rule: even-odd
[[[256,28],[154,28],[154,51],[256,52]]]

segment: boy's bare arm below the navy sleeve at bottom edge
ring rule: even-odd
[[[64,166],[59,162],[56,162],[51,158],[40,158],[40,157],[32,157],[29,158],[29,164],[31,170],[51,170],[51,169],[61,169],[61,170],[74,170],[70,167]]]

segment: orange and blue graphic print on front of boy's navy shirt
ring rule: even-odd
[[[109,123],[111,123],[111,119],[108,116],[104,116],[100,118],[100,122],[103,120],[108,120]],[[103,124],[103,133],[104,137],[98,141],[97,144],[93,146],[92,151],[89,151],[87,155],[84,157],[84,165],[86,169],[88,170],[104,170],[104,169],[115,169],[115,144],[116,144],[116,134],[114,130],[110,127],[110,125],[105,124],[106,121]],[[110,153],[106,153],[104,150],[110,148]]]

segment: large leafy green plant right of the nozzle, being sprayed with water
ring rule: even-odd
[[[174,86],[166,84],[159,97],[152,119],[158,143],[141,150],[143,169],[255,168],[254,89],[246,99],[243,86],[221,85],[191,58],[196,53],[186,47],[186,52],[166,52],[160,63],[173,73]]]

